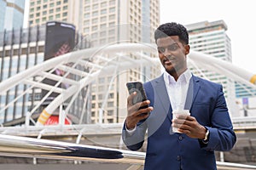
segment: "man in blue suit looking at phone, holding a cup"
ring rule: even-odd
[[[128,97],[124,143],[139,150],[148,130],[146,170],[217,169],[214,150],[231,150],[236,143],[222,86],[189,71],[189,34],[184,26],[163,24],[154,38],[165,71],[143,84],[148,100],[132,105],[137,94]],[[149,107],[138,110],[143,105]],[[183,110],[190,116],[172,116]]]

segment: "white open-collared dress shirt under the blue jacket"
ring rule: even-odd
[[[166,90],[172,105],[172,111],[183,110],[189,88],[189,80],[192,77],[189,69],[183,72],[177,82],[174,77],[164,71],[164,80],[166,82]]]

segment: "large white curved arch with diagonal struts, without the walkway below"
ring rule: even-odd
[[[157,54],[154,44],[148,43],[117,43],[101,48],[86,48],[84,50],[74,51],[69,54],[63,54],[57,58],[49,59],[41,64],[35,65],[32,68],[22,71],[14,77],[0,83],[0,94],[5,94],[11,88],[14,88],[18,84],[26,84],[29,88],[23,93],[17,96],[13,101],[10,101],[8,105],[1,108],[0,114],[3,114],[10,105],[13,105],[23,95],[29,94],[31,88],[42,88],[49,90],[49,94],[55,92],[59,94],[41,113],[36,125],[44,125],[44,122],[49,116],[67,99],[76,98],[79,91],[91,82],[96,80],[96,77],[103,74],[113,73],[114,71],[120,72],[128,69],[136,68],[138,66],[155,65],[160,66],[158,58],[152,58],[147,54]],[[132,54],[132,55],[131,55]],[[105,56],[111,56],[107,58]],[[131,57],[132,56],[132,57]],[[190,51],[189,62],[198,68],[204,68],[208,71],[215,71],[223,74],[236,82],[241,82],[247,85],[247,87],[256,89],[256,75],[246,71],[242,68],[232,65],[230,62],[222,59],[217,59],[208,54],[202,54],[195,51]],[[78,68],[86,68],[86,71]],[[56,69],[65,71],[63,77],[52,74]],[[72,73],[80,77],[79,80],[74,80],[67,77]],[[33,77],[40,77],[33,79]],[[54,86],[44,84],[42,80],[47,77],[55,80]],[[60,83],[69,84],[69,88],[58,88]],[[32,109],[32,111],[26,114],[26,125],[32,121],[31,116],[34,111],[44,102],[41,99],[38,104]],[[72,102],[71,102],[72,103]],[[67,105],[67,110],[69,108]]]

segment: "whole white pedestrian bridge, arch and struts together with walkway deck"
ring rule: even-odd
[[[13,88],[18,87],[20,84],[25,85],[27,88],[22,93],[15,96],[10,100],[8,104],[0,108],[0,115],[4,114],[12,105],[15,104],[20,98],[26,98],[27,95],[32,93],[33,88],[47,90],[48,93],[43,99],[38,100],[30,111],[26,112],[26,115],[20,117],[24,122],[21,127],[8,127],[8,123],[2,124],[0,132],[3,134],[11,134],[15,136],[31,136],[33,138],[41,139],[66,139],[71,137],[71,141],[79,144],[83,139],[89,144],[94,145],[107,145],[109,147],[124,149],[119,139],[121,122],[113,124],[104,124],[102,121],[96,122],[96,124],[72,124],[66,125],[65,119],[70,114],[71,106],[78,97],[79,92],[84,88],[94,83],[97,77],[102,75],[113,75],[116,77],[119,72],[132,70],[135,68],[149,68],[148,66],[160,68],[160,62],[157,57],[157,51],[153,44],[148,43],[117,43],[101,48],[86,48],[84,50],[74,51],[69,54],[63,54],[53,59],[49,59],[34,65],[26,71],[22,71],[9,79],[0,82],[0,95],[5,96]],[[188,62],[190,66],[193,66],[194,71],[198,72],[201,77],[207,77],[206,71],[214,72],[214,74],[224,75],[228,77],[230,82],[237,82],[241,87],[247,90],[251,96],[256,96],[256,75],[246,71],[242,68],[232,65],[230,62],[222,59],[216,59],[208,54],[201,54],[199,52],[191,51],[188,56]],[[63,71],[62,76],[55,75],[55,70]],[[149,69],[150,70],[150,69]],[[143,69],[141,71],[144,71]],[[69,77],[73,75],[73,77]],[[79,78],[78,78],[79,77]],[[55,82],[55,84],[45,84],[44,79],[48,78]],[[140,80],[143,81],[143,80]],[[61,83],[68,84],[68,88],[60,88]],[[108,92],[106,92],[108,94]],[[44,104],[51,94],[57,94],[49,105],[44,108],[44,111],[39,112],[40,106]],[[107,95],[106,95],[107,96]],[[102,103],[106,105],[106,100]],[[84,94],[84,100],[90,100],[90,94]],[[230,96],[228,101],[234,101],[234,97]],[[63,105],[65,104],[65,107]],[[235,105],[235,104],[230,104]],[[83,108],[86,107],[85,105]],[[47,121],[54,111],[58,110],[61,113],[59,115],[59,124],[56,126],[44,126],[44,122]],[[234,109],[236,110],[236,109]],[[232,108],[231,108],[232,114]],[[85,109],[81,112],[81,117],[86,116],[88,112]],[[102,117],[102,112],[99,113]],[[35,118],[36,117],[36,118]],[[253,132],[256,124],[255,116],[241,117],[232,116],[234,127],[237,132],[247,133],[249,129]],[[243,130],[243,131],[242,131]],[[118,136],[116,142],[111,139],[101,139],[99,136]],[[252,136],[243,136],[247,142],[254,141]],[[87,141],[87,140],[88,141]],[[244,140],[242,140],[244,141]],[[104,142],[110,144],[105,144]],[[114,144],[114,145],[111,145]],[[247,145],[245,146],[247,147]],[[247,149],[255,150],[255,146],[251,145]],[[244,154],[244,150],[241,151],[241,156],[247,156]],[[252,154],[255,154],[252,152]],[[220,153],[221,155],[221,153]],[[224,158],[219,156],[219,166],[221,166]],[[256,162],[252,159],[247,159]],[[224,165],[223,165],[224,166]],[[254,168],[254,167],[253,167]],[[256,168],[255,168],[256,169]]]

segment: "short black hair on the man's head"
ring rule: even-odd
[[[155,42],[158,38],[170,36],[178,36],[180,41],[189,44],[189,32],[183,25],[176,22],[162,24],[154,31]]]

